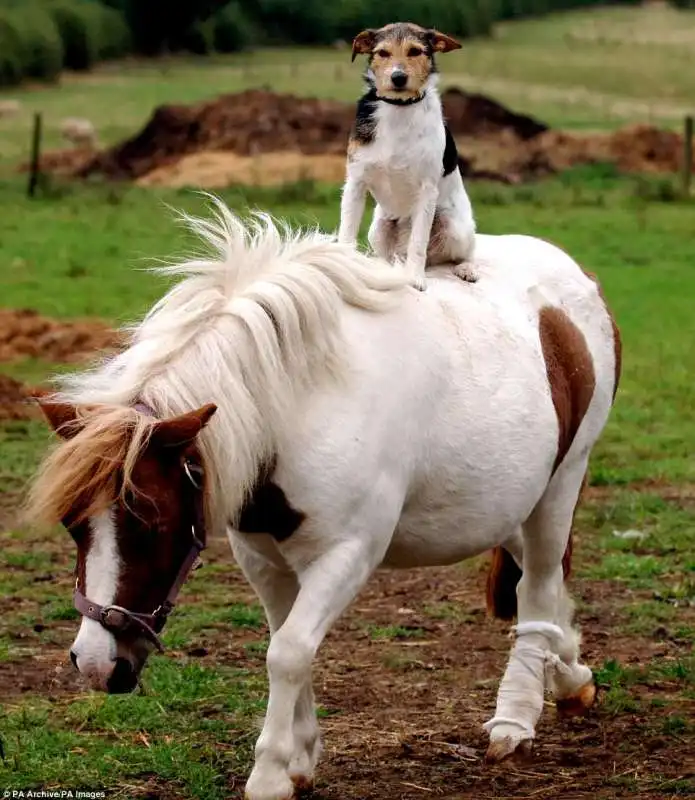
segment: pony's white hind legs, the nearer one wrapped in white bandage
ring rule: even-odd
[[[546,676],[561,697],[582,694],[591,683],[590,670],[577,660],[579,640],[571,628],[571,604],[563,585],[563,556],[585,471],[584,461],[563,463],[523,525],[516,642],[495,716],[485,724],[491,761],[530,746],[543,708]]]

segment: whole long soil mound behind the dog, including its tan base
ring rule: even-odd
[[[461,153],[459,167],[469,179],[518,183],[597,162],[629,172],[673,173],[682,157],[681,136],[650,125],[574,135],[550,130],[485,95],[451,88],[442,102]],[[48,153],[43,168],[143,185],[212,188],[300,178],[339,183],[353,117],[352,103],[254,89],[198,105],[161,106],[132,139],[96,155]]]

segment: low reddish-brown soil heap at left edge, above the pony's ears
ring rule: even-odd
[[[0,308],[0,362],[18,358],[80,361],[118,346],[120,336],[98,320],[63,321],[32,309]]]

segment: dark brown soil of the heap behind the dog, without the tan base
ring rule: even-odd
[[[526,141],[547,126],[496,101],[461,89],[444,92],[444,113],[455,136],[510,131]],[[223,95],[193,106],[160,106],[140,133],[94,159],[75,164],[79,176],[99,173],[132,180],[201,151],[240,156],[290,151],[344,157],[354,104],[264,90]]]

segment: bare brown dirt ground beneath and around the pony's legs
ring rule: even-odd
[[[66,597],[71,558],[66,536],[52,567]],[[231,565],[226,542],[212,543],[206,560]],[[380,573],[329,634],[315,672],[317,702],[326,716],[314,800],[692,796],[695,740],[665,732],[677,691],[666,678],[631,686],[632,709],[616,711],[599,701],[583,719],[559,719],[548,702],[529,759],[500,766],[483,762],[481,725],[493,712],[509,647],[506,623],[485,613],[485,567],[481,559],[447,569]],[[231,566],[220,581],[235,602],[253,600]],[[620,584],[575,580],[572,588],[583,609],[587,663],[616,659],[644,666],[687,651],[686,642],[669,639],[663,630],[648,636],[622,633],[626,597]],[[38,614],[36,604],[23,602],[28,614],[34,606]],[[194,603],[195,596],[184,591],[183,602]],[[0,618],[4,603],[17,613],[13,598],[3,598]],[[10,630],[26,657],[0,663],[4,694],[32,692],[67,702],[81,691],[66,658],[76,623],[43,622],[37,615],[36,626]],[[389,626],[398,626],[398,634],[381,636]],[[51,644],[39,647],[39,637],[47,633]],[[169,657],[262,670],[263,654],[244,645],[263,636],[207,631]],[[692,719],[695,700],[680,698],[677,710]],[[241,796],[244,779],[230,776],[231,797]],[[148,792],[150,798],[178,796],[165,785]]]

